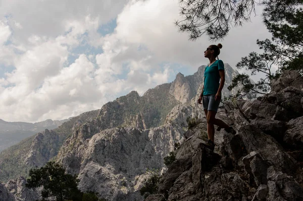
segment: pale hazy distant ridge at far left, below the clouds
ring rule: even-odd
[[[8,122],[0,119],[0,152],[12,145],[19,143],[25,138],[34,135],[37,132],[43,131],[45,129],[57,128],[59,125],[68,120],[69,119],[47,119],[45,121],[36,123],[28,123],[21,121]]]

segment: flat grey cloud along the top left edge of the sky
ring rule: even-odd
[[[12,21],[11,26],[20,29],[15,33],[15,39],[24,41],[32,34],[57,37],[66,29],[66,24],[82,21],[90,15],[92,19],[99,18],[104,24],[116,17],[126,0],[95,1],[95,0],[2,0],[0,16]]]

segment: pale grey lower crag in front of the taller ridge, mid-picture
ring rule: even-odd
[[[58,160],[68,173],[79,175],[83,191],[93,190],[110,200],[142,200],[138,190],[146,169],[161,170],[163,158],[181,141],[183,132],[173,122],[144,130],[105,129],[84,140],[77,150],[71,149],[69,155],[59,154]],[[82,136],[83,131],[78,139]]]

